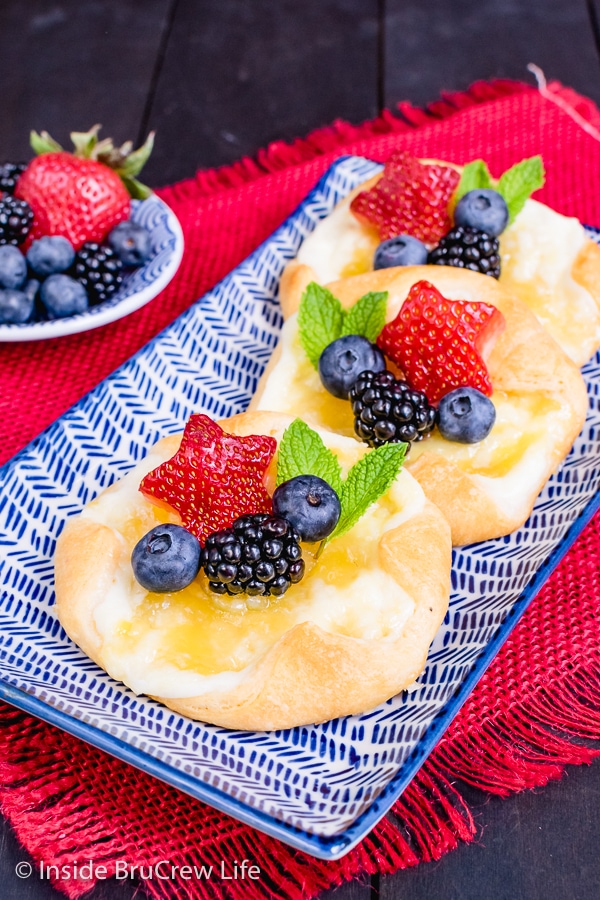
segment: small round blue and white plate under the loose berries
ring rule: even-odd
[[[0,325],[0,342],[41,341],[90,331],[128,316],[156,297],[179,268],[183,256],[181,226],[175,213],[156,194],[147,200],[132,200],[131,218],[150,232],[152,256],[125,276],[114,297],[66,319]]]

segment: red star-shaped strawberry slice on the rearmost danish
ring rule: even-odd
[[[450,166],[395,153],[377,184],[358,194],[350,209],[359,221],[374,225],[382,241],[410,234],[437,244],[452,228],[448,203],[459,181],[460,174]]]

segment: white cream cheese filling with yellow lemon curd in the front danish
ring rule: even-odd
[[[281,433],[275,435],[280,438]],[[348,469],[368,450],[354,439],[323,434]],[[165,448],[163,448],[165,449]],[[308,574],[265,610],[223,610],[203,580],[175,594],[151,594],[130,565],[133,546],[154,524],[177,521],[138,491],[146,471],[172,454],[153,450],[139,467],[100,495],[83,516],[114,529],[123,546],[112,588],[94,612],[102,663],[136,693],[168,698],[229,690],[294,625],[312,622],[357,640],[392,641],[415,610],[415,601],[379,564],[381,535],[422,511],[420,486],[402,471],[389,491],[318,562],[308,548]],[[305,553],[307,556],[307,553]]]

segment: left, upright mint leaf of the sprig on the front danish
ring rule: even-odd
[[[338,497],[341,493],[342,470],[337,457],[301,419],[295,419],[286,428],[279,443],[277,486],[297,475],[317,475],[331,485]]]

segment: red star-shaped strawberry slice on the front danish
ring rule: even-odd
[[[191,416],[175,456],[146,475],[140,491],[176,510],[203,543],[238,516],[272,512],[263,476],[276,449],[275,438],[226,434],[208,416]]]

